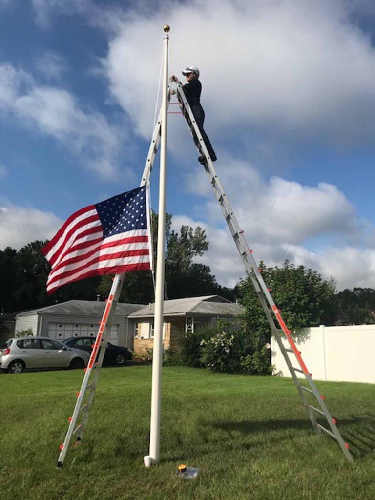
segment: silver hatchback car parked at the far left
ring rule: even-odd
[[[89,354],[49,337],[8,338],[0,349],[0,368],[20,373],[25,368],[84,368]]]

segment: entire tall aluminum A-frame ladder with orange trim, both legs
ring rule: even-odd
[[[204,141],[201,137],[201,134],[199,132],[199,129],[195,123],[194,116],[192,114],[191,108],[186,100],[186,97],[183,93],[182,85],[180,82],[176,82],[176,87],[177,87],[177,98],[179,101],[179,105],[182,110],[182,114],[184,115],[184,118],[187,122],[187,125],[193,133],[195,131],[195,134],[197,136],[197,139],[199,141],[199,152],[201,154],[204,154],[206,157],[206,162],[204,164],[204,169],[206,171],[207,177],[209,179],[209,182],[212,186],[212,189],[215,193],[216,199],[221,207],[222,213],[225,217],[225,220],[228,224],[230,233],[234,239],[234,242],[237,246],[238,252],[242,258],[243,264],[245,266],[246,271],[248,272],[250,279],[252,281],[252,284],[255,288],[255,291],[258,295],[258,298],[260,300],[260,303],[263,307],[264,313],[267,317],[268,323],[271,328],[271,332],[274,335],[277,344],[280,348],[280,351],[282,355],[285,358],[286,364],[290,370],[290,374],[292,376],[293,382],[297,388],[298,394],[302,400],[303,406],[311,420],[311,423],[316,430],[318,434],[321,434],[322,432],[327,433],[329,436],[332,438],[336,439],[337,442],[339,443],[343,453],[345,454],[346,458],[349,461],[353,461],[353,458],[348,450],[348,444],[344,442],[344,440],[341,437],[341,434],[339,433],[337,427],[336,427],[336,420],[331,417],[328,408],[324,402],[324,397],[319,393],[317,390],[314,382],[312,381],[311,374],[308,372],[299,351],[297,350],[294,341],[290,335],[290,331],[287,329],[284,321],[282,320],[282,317],[280,315],[280,312],[278,311],[276,305],[274,304],[272,297],[269,293],[269,289],[266,287],[264,280],[258,270],[258,267],[256,265],[255,259],[252,256],[251,250],[249,250],[248,245],[246,243],[246,240],[243,235],[243,231],[240,230],[237,219],[235,215],[233,214],[233,210],[231,208],[231,205],[225,195],[225,192],[222,188],[221,182],[217,177],[216,170],[213,166],[213,163],[211,159],[209,158],[207,148],[204,144]],[[168,101],[170,100],[170,95],[171,95],[171,84],[169,83],[168,85]],[[155,159],[155,155],[158,149],[158,145],[160,142],[160,133],[161,133],[161,110],[158,115],[158,119],[156,121],[153,133],[152,133],[152,138],[147,154],[147,158],[145,161],[140,185],[148,185],[149,184],[149,178],[151,174],[151,170],[153,167],[153,162]],[[64,441],[62,444],[60,444],[60,453],[57,459],[57,467],[62,467],[64,463],[64,459],[67,453],[67,450],[69,448],[69,445],[71,443],[71,440],[75,438],[75,443],[79,444],[80,441],[82,440],[82,435],[87,423],[87,417],[88,413],[92,404],[92,400],[94,397],[95,393],[95,388],[97,385],[98,377],[100,374],[100,369],[102,366],[103,358],[104,358],[104,352],[105,348],[100,348],[100,346],[106,346],[108,336],[109,336],[109,331],[110,331],[110,326],[113,320],[113,316],[115,314],[115,309],[116,309],[116,304],[118,301],[118,297],[121,291],[122,287],[122,282],[125,277],[125,273],[121,274],[116,274],[113,283],[109,292],[108,299],[106,301],[103,317],[101,321],[99,322],[99,329],[97,332],[97,336],[94,342],[94,346],[91,352],[90,359],[88,361],[87,368],[85,368],[85,374],[81,383],[81,387],[78,392],[76,392],[76,403],[75,407],[73,410],[72,416],[68,418],[69,421],[69,426],[64,438]],[[270,309],[268,308],[268,305],[270,306]],[[281,328],[277,328],[275,325],[275,322],[273,321],[271,312],[273,312],[278,325]],[[285,334],[290,348],[285,348],[280,335],[282,333]],[[99,355],[97,353],[99,352]],[[290,354],[289,354],[290,353]],[[294,358],[296,359],[299,368],[294,367],[292,365],[292,361],[289,358],[289,355],[293,354]],[[96,359],[97,358],[97,359]],[[305,379],[307,381],[308,387],[302,385],[297,378],[296,372],[303,373],[305,376]],[[313,406],[309,404],[307,396],[312,395],[318,402],[317,406]],[[315,403],[316,404],[316,403]],[[330,427],[330,430],[327,429],[326,427],[323,427],[320,423],[317,422],[314,413],[318,413],[326,419],[328,422],[328,425]]]

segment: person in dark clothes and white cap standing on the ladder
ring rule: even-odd
[[[211,142],[209,138],[207,137],[207,134],[204,131],[203,128],[203,122],[204,122],[204,110],[200,104],[200,92],[202,90],[202,85],[199,81],[199,69],[196,66],[188,66],[184,71],[182,71],[182,74],[186,77],[187,83],[183,85],[183,91],[185,93],[187,102],[190,104],[191,111],[194,115],[196,124],[198,125],[199,131],[201,133],[201,136],[204,140],[204,143],[207,147],[208,154],[211,158],[211,161],[216,161],[217,157],[215,154],[215,151],[212,148]],[[174,76],[174,74],[171,76],[171,79],[173,81],[177,81],[177,77]],[[196,137],[196,134],[193,134],[194,142],[196,146],[198,147],[199,151],[201,151],[199,147],[199,141],[198,138]],[[198,157],[198,161],[200,163],[205,163],[206,162],[206,157],[204,154],[201,154]]]

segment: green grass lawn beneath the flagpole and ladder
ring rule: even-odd
[[[105,368],[82,444],[56,469],[82,370],[0,376],[0,498],[375,498],[375,387],[316,382],[355,464],[318,437],[291,379],[163,368],[160,462],[148,454],[150,366]],[[178,463],[200,468],[196,480]]]

